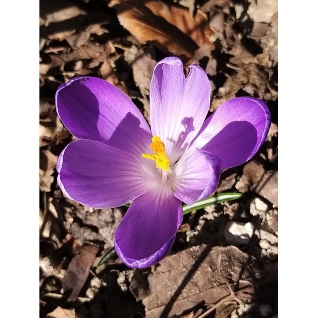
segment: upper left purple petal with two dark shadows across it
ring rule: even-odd
[[[149,150],[149,125],[135,104],[103,79],[80,76],[55,94],[57,113],[79,139],[90,139],[134,153]]]

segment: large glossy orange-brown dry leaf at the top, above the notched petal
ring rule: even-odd
[[[198,47],[209,45],[213,31],[206,15],[198,10],[191,17],[189,10],[169,6],[161,1],[112,0],[121,25],[141,43],[152,43],[166,53],[190,58]]]

